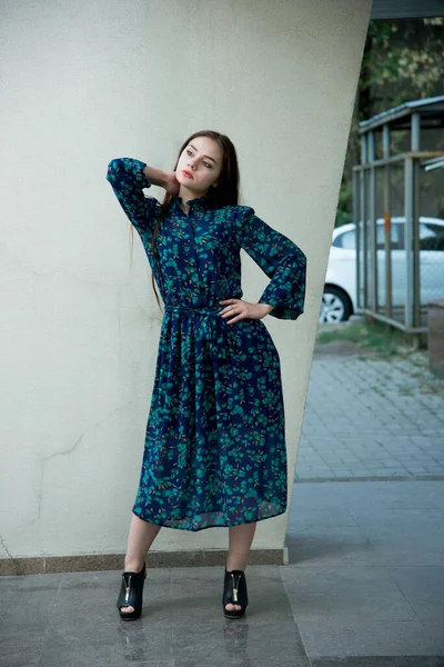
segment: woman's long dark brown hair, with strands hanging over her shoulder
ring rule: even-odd
[[[218,178],[218,186],[211,187],[208,195],[208,206],[211,208],[222,208],[224,206],[236,206],[239,203],[239,185],[240,185],[240,175],[239,175],[239,163],[238,156],[232,141],[226,137],[226,135],[221,135],[221,132],[216,132],[214,130],[201,130],[200,132],[194,132],[191,135],[181,146],[179,150],[178,158],[175,160],[175,165],[173,171],[175,171],[178,167],[179,159],[182,155],[182,151],[186,148],[186,146],[195,139],[195,137],[209,137],[213,139],[222,149],[222,169],[221,173]],[[163,201],[161,202],[161,211],[159,218],[155,223],[153,237],[152,237],[152,252],[154,261],[159,262],[159,251],[158,251],[158,235],[160,230],[160,226],[162,225],[163,219],[165,218],[173,195],[171,192],[167,192],[163,197]],[[133,228],[131,225],[131,239],[133,243]],[[154,282],[154,273],[151,270],[151,282],[154,290],[154,295],[158,301],[158,306],[161,309],[158,290],[155,289]]]

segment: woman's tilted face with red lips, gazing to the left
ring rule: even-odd
[[[216,185],[222,170],[222,149],[210,137],[194,137],[183,149],[175,178],[195,196]],[[189,176],[190,175],[190,176]]]

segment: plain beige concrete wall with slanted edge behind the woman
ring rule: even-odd
[[[371,0],[2,3],[1,537],[12,556],[123,552],[161,312],[105,181],[171,169],[182,140],[234,141],[243,203],[309,257],[306,309],[266,317],[281,355],[290,497]],[[155,196],[162,191],[153,188]],[[244,298],[266,277],[244,255]],[[286,515],[253,548],[284,544]],[[163,529],[153,549],[225,548]],[[7,557],[7,552],[0,557]]]

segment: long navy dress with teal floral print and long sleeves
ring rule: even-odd
[[[198,531],[286,510],[287,460],[279,352],[262,319],[233,325],[219,301],[242,299],[241,249],[271,279],[259,302],[272,317],[304,309],[306,258],[249,206],[214,208],[208,195],[160,203],[143,192],[145,162],[119,158],[107,180],[140,235],[164,303],[139,490],[141,519]]]

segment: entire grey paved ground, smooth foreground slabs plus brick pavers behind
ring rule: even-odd
[[[444,398],[417,368],[314,360],[290,563],[248,566],[243,619],[220,567],[149,569],[135,623],[120,571],[1,577],[0,666],[444,667]]]

